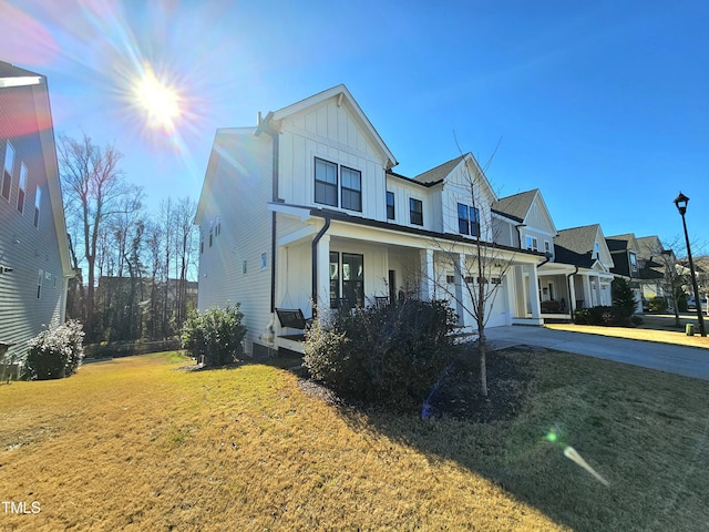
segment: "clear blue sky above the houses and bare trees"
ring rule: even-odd
[[[681,190],[709,252],[708,2],[0,0],[0,20],[56,132],[115,142],[151,205],[198,197],[217,127],[345,83],[399,173],[500,143],[493,187],[541,188],[558,229],[669,242]],[[174,131],[132,96],[146,69],[179,93]]]

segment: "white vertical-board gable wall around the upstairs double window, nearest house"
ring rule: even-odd
[[[315,202],[315,158],[319,157],[361,172],[362,211],[343,212],[372,219],[387,218],[384,160],[360,131],[346,101],[338,105],[337,99],[326,100],[286,116],[280,131],[278,194],[281,200],[296,205],[341,208]]]

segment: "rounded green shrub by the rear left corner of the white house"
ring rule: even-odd
[[[182,328],[182,347],[206,367],[233,362],[242,354],[246,326],[239,304],[189,314]]]

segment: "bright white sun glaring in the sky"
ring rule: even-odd
[[[147,69],[134,89],[136,103],[147,113],[147,123],[153,127],[162,127],[167,132],[175,129],[182,114],[181,95],[177,90],[160,80]]]

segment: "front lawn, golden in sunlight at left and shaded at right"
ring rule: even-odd
[[[336,407],[278,365],[186,371],[176,354],[0,386],[0,499],[29,512],[0,505],[0,529],[709,522],[709,383],[553,351],[499,356],[523,368],[525,395],[516,417],[493,423]],[[566,458],[567,446],[608,485]]]

